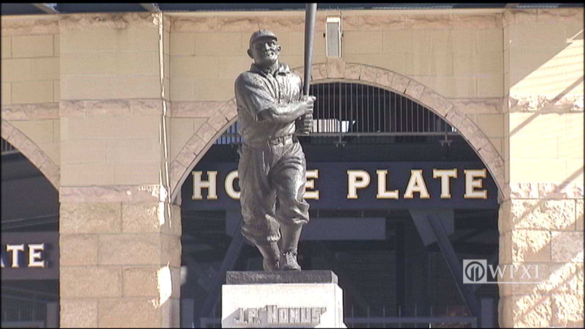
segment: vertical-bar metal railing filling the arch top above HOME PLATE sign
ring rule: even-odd
[[[459,135],[441,116],[418,102],[392,91],[355,83],[311,85],[315,95],[311,143],[408,142],[408,138],[440,142],[439,137]],[[357,138],[357,139],[356,139]],[[216,144],[238,144],[238,122]]]

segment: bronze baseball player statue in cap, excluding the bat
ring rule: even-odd
[[[235,82],[242,234],[260,250],[264,270],[301,270],[297,245],[309,204],[303,198],[307,165],[295,133],[311,131],[315,97],[302,95],[301,78],[278,61],[273,32],[252,33],[249,47],[254,63]]]

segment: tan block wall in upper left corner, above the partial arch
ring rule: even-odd
[[[12,120],[12,125],[35,143],[43,156],[59,166],[59,131],[55,129],[58,115],[56,111],[44,112],[56,109],[55,103],[60,100],[57,19],[34,22],[28,18],[2,16],[2,118]],[[26,24],[33,28],[26,28]],[[22,109],[26,115],[22,115]]]

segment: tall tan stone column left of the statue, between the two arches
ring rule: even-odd
[[[180,325],[162,18],[61,16],[61,327]]]

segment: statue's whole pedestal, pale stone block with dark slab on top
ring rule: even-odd
[[[222,328],[346,328],[331,270],[228,272]]]

